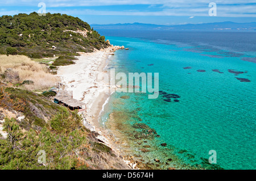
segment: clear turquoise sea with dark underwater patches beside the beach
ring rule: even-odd
[[[161,169],[212,169],[216,150],[218,168],[256,169],[256,33],[100,33],[129,48],[115,52],[108,69],[159,73],[157,99],[115,92],[104,108],[102,124],[127,153],[152,164],[157,158]]]

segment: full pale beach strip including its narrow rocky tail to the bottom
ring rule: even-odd
[[[97,136],[98,140],[113,149],[119,157],[122,157],[130,169],[135,169],[137,164],[124,159],[121,154],[122,150],[117,148],[119,147],[116,145],[118,138],[99,121],[111,93],[109,82],[98,81],[97,77],[100,73],[108,73],[105,70],[108,66],[108,60],[110,56],[113,56],[113,52],[119,49],[124,48],[111,46],[96,50],[93,53],[79,52],[78,60],[74,61],[76,64],[60,66],[56,76],[61,78],[63,90],[72,92],[73,99],[86,104],[86,112],[80,112],[84,117],[84,126],[90,131],[97,132],[99,134]]]

